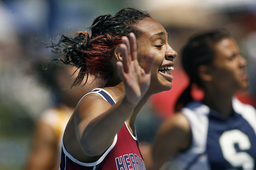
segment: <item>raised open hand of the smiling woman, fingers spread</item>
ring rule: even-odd
[[[137,104],[150,86],[155,53],[151,51],[147,54],[145,66],[141,68],[137,59],[134,33],[130,33],[130,41],[127,37],[122,37],[122,41],[120,48],[123,60],[117,62],[118,76],[124,82],[126,99],[132,104]]]

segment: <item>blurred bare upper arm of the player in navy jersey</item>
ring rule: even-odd
[[[186,149],[190,143],[190,125],[182,113],[176,113],[160,127],[152,148],[155,164],[163,164],[178,152]]]

